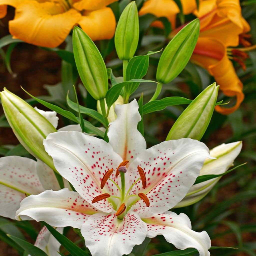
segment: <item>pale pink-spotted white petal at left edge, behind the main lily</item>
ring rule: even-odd
[[[20,156],[0,158],[0,215],[15,219],[20,202],[44,191],[36,173],[36,161]]]

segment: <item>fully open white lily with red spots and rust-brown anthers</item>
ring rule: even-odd
[[[168,211],[185,197],[205,159],[212,159],[208,148],[183,138],[146,150],[137,130],[141,116],[136,100],[115,111],[109,143],[81,132],[47,136],[45,150],[77,192],[31,195],[21,202],[16,219],[80,228],[92,256],[129,254],[146,236],[158,234],[178,249],[192,247],[209,256],[208,234],[191,230],[186,215]]]

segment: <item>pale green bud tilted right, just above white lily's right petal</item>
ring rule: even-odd
[[[200,140],[204,135],[217,100],[219,85],[209,85],[182,112],[169,131],[166,140],[191,138]]]

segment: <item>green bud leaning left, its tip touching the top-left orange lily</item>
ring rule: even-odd
[[[108,91],[108,73],[104,60],[91,38],[79,27],[73,31],[73,51],[79,76],[95,100]]]

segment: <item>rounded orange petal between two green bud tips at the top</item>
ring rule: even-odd
[[[109,7],[85,12],[78,23],[93,41],[111,39],[115,34],[115,16]]]

